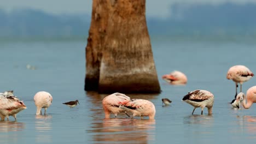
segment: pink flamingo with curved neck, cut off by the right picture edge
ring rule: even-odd
[[[245,95],[243,95],[243,97],[245,97]],[[253,103],[256,103],[256,86],[247,90],[246,98],[243,98],[243,107],[245,107],[245,109],[249,109]]]

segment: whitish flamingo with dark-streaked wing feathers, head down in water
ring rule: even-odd
[[[206,90],[200,90],[197,89],[195,91],[189,92],[187,95],[185,95],[182,99],[186,103],[194,106],[194,110],[192,112],[192,115],[197,107],[201,107],[201,115],[203,113],[203,108],[208,108],[208,113],[212,113],[212,107],[214,103],[214,96],[211,92],[208,92]]]

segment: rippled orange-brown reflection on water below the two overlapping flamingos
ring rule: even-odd
[[[147,143],[155,140],[155,120],[112,118],[92,123],[95,142]]]

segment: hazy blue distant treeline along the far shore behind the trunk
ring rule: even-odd
[[[256,4],[172,5],[170,17],[147,16],[153,35],[256,35]],[[51,15],[40,10],[0,9],[0,37],[88,35],[91,15]]]

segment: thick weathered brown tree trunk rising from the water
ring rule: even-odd
[[[146,0],[94,0],[86,46],[85,91],[159,93]]]

